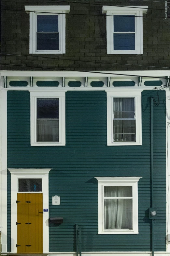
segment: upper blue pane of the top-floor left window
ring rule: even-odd
[[[58,32],[58,15],[37,15],[37,32]]]

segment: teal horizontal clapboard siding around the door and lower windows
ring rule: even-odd
[[[49,228],[50,251],[75,250],[76,223],[83,251],[150,251],[150,96],[142,92],[142,146],[107,146],[106,93],[66,92],[66,146],[30,146],[30,94],[8,91],[8,168],[53,168],[49,173],[49,215],[64,217]],[[153,106],[155,251],[165,251],[166,117],[165,92]],[[139,234],[98,234],[98,185],[95,176],[141,176],[138,182]],[[8,188],[9,189],[9,188]],[[61,205],[52,206],[52,196]],[[10,229],[10,227],[8,226]]]

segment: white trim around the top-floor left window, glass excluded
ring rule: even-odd
[[[25,6],[25,11],[30,12],[30,51],[34,54],[63,54],[65,53],[65,13],[69,13],[70,5],[63,6]],[[43,12],[43,13],[38,13]],[[59,13],[59,50],[36,50],[36,16],[38,14],[52,15]]]

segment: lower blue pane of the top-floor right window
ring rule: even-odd
[[[135,50],[135,33],[134,34],[114,34],[113,35],[114,51]]]

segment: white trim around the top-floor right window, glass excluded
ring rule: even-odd
[[[124,7],[124,8],[123,8]],[[103,6],[102,13],[106,13],[107,54],[143,54],[143,13],[148,6]],[[134,8],[133,8],[134,7]],[[115,51],[113,49],[113,15],[135,15],[135,50]],[[109,16],[110,15],[110,16]]]

